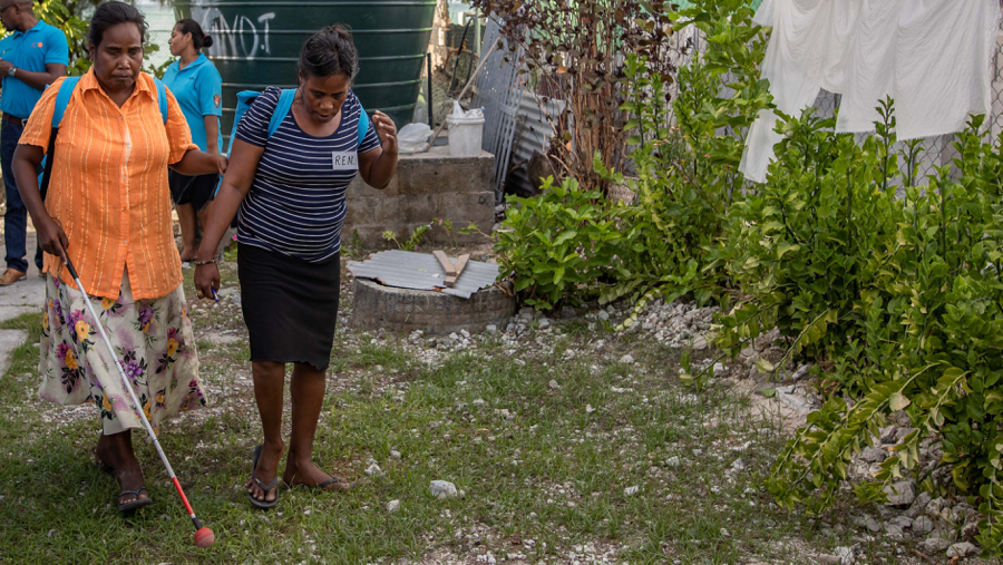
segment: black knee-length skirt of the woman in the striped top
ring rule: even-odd
[[[240,244],[241,308],[251,361],[304,363],[325,370],[334,345],[340,254],[311,263]]]

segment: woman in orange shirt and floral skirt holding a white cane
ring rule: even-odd
[[[47,201],[36,171],[51,135],[57,80],[35,107],[14,153],[13,173],[46,252],[39,394],[62,405],[92,401],[104,434],[98,465],[121,486],[118,509],[152,503],[133,454],[140,427],[111,363],[121,363],[156,427],[205,405],[198,359],[174,243],[167,168],[222,173],[226,160],[198,150],[174,96],[160,114],[153,78],[139,71],[146,22],[129,4],[101,4],[90,22],[90,71],[66,107]],[[58,220],[57,220],[58,218]],[[108,355],[84,296],[62,266],[69,256],[85,290],[101,298]]]

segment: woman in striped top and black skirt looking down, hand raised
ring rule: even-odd
[[[293,363],[292,434],[283,481],[350,487],[312,460],[338,315],[345,188],[357,174],[383,188],[397,171],[393,120],[377,111],[359,135],[364,110],[351,90],[359,71],[351,35],[340,27],[315,33],[303,45],[299,71],[292,107],[271,137],[277,88],[262,92],[241,119],[195,262],[195,284],[208,296],[220,288],[216,247],[240,208],[241,304],[264,431],[246,487],[263,508],[277,501],[286,363]]]

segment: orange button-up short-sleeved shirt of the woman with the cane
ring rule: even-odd
[[[46,89],[20,143],[49,146],[56,94]],[[197,149],[185,116],[167,90],[167,124],[153,78],[140,74],[119,108],[101,90],[94,70],[80,78],[59,126],[46,208],[69,238],[70,261],[84,289],[118,298],[126,269],[136,300],[166,296],[182,283],[174,242],[167,165]],[[46,254],[45,272],[74,285],[66,269]]]

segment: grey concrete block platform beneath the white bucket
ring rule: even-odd
[[[475,222],[481,232],[490,233],[495,224],[494,173],[495,156],[486,152],[477,157],[452,157],[448,147],[432,147],[429,153],[401,155],[387,188],[372,188],[361,176],[349,185],[342,243],[351,242],[356,230],[366,247],[382,249],[387,246],[384,231],[392,230],[403,241],[416,227],[437,218],[450,220],[454,231]],[[484,241],[477,234],[456,238],[458,243]],[[426,241],[452,243],[438,226]]]

